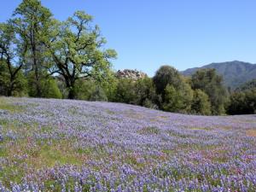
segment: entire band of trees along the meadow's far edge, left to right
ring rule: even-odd
[[[214,69],[183,77],[162,66],[153,78],[119,79],[93,18],[77,11],[65,21],[38,0],[23,0],[0,24],[0,95],[125,102],[175,113],[256,112],[256,90],[227,90]]]

